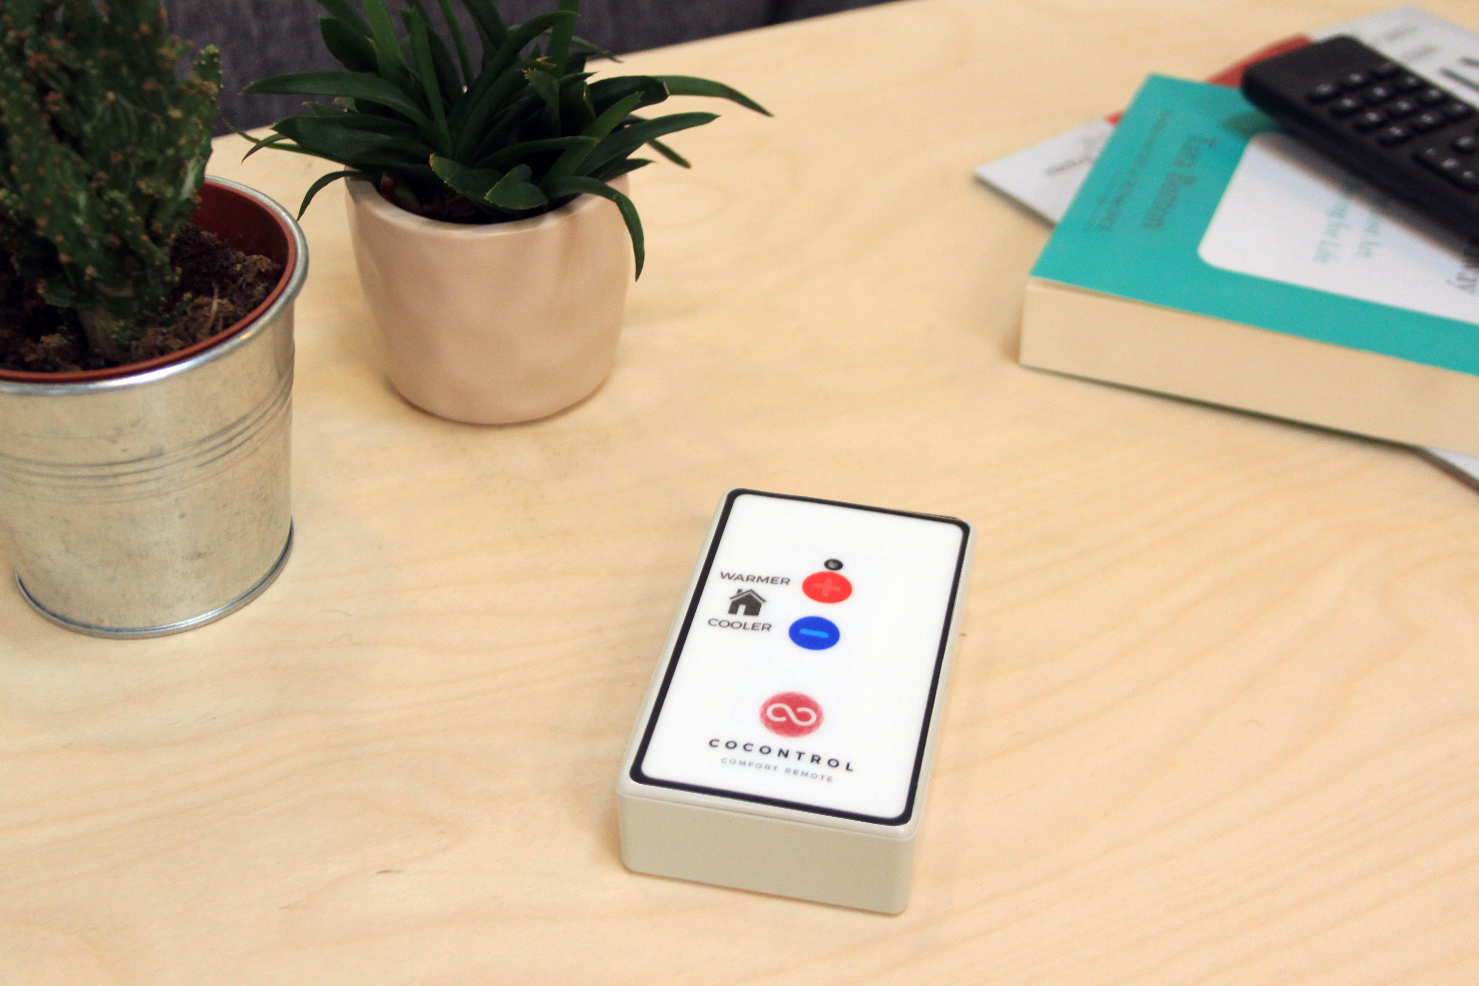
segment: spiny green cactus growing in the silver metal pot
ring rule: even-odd
[[[172,318],[210,157],[220,58],[185,50],[157,0],[0,1],[0,247],[112,359]]]

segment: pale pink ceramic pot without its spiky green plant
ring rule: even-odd
[[[626,188],[617,179],[615,188]],[[349,229],[386,375],[419,408],[507,424],[555,414],[611,373],[632,279],[617,207],[460,225],[349,183]]]

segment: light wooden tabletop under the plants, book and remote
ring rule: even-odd
[[[389,390],[325,194],[282,578],[129,643],[0,591],[0,983],[1479,982],[1479,497],[1022,370],[1047,234],[970,176],[1375,6],[918,0],[632,58],[776,117],[634,176],[615,373],[529,426]],[[321,167],[240,149],[214,169],[294,207]],[[618,758],[734,485],[978,525],[902,917],[618,860]]]

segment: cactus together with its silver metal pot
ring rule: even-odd
[[[220,62],[157,0],[0,1],[0,534],[25,599],[155,636],[291,544],[293,217],[206,180]]]

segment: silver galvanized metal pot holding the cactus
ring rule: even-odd
[[[282,263],[247,318],[170,356],[74,374],[0,371],[0,534],[21,594],[99,637],[219,619],[293,545],[293,302],[308,244],[266,195],[207,179],[195,222]]]

